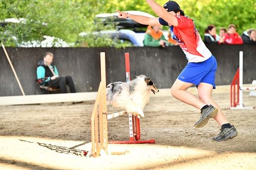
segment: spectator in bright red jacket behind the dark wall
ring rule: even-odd
[[[239,34],[236,32],[236,26],[233,24],[230,24],[228,26],[228,31],[224,35],[224,43],[226,44],[243,44],[242,38],[239,36]]]

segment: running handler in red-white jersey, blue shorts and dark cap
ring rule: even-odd
[[[201,116],[195,124],[196,128],[204,127],[210,118],[218,122],[221,132],[212,138],[214,141],[236,137],[236,128],[229,124],[218,104],[211,98],[212,89],[215,89],[217,61],[203,43],[194,21],[185,16],[184,11],[174,1],[168,1],[163,7],[153,0],[146,2],[159,17],[151,18],[117,11],[118,17],[131,18],[143,25],[169,26],[172,38],[179,43],[188,60],[170,92],[178,100],[201,110]],[[199,99],[186,91],[193,84],[197,85]]]

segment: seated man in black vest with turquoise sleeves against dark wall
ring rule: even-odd
[[[44,60],[37,63],[36,75],[37,80],[44,86],[60,88],[61,93],[67,93],[67,85],[70,92],[75,93],[75,85],[71,76],[59,77],[58,70],[55,65],[52,65],[53,54],[47,52],[44,55]]]

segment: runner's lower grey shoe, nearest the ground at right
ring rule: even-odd
[[[238,135],[238,131],[236,130],[236,128],[234,128],[234,126],[232,126],[231,128],[221,128],[220,131],[220,134],[215,138],[212,138],[212,140],[224,141],[236,137]]]

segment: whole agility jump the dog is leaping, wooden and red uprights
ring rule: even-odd
[[[130,62],[129,53],[125,53],[126,82],[130,81]],[[101,150],[108,154],[108,119],[121,116],[125,111],[107,114],[106,109],[106,77],[105,77],[105,53],[100,53],[101,82],[91,116],[91,135],[92,135],[92,156],[100,155]],[[110,141],[109,143],[155,143],[154,139],[140,139],[139,118],[129,114],[129,134],[128,141]]]

